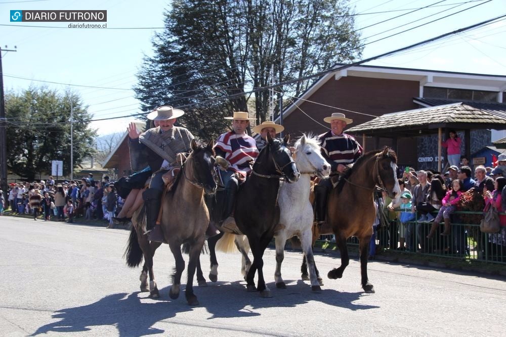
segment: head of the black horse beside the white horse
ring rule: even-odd
[[[287,147],[289,140],[289,135],[286,135],[284,139],[281,140],[272,138],[270,134],[267,133],[266,150],[268,151],[262,151],[262,153],[266,153],[271,157],[272,161],[268,160],[268,165],[272,165],[272,169],[276,173],[284,177],[287,182],[296,182],[299,180],[301,173],[297,169],[297,165],[295,165],[295,162],[291,157],[291,152]],[[257,162],[259,162],[258,159]]]

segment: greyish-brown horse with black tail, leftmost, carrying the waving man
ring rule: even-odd
[[[204,191],[214,194],[217,185],[215,181],[214,165],[215,152],[214,141],[207,146],[197,146],[192,140],[192,153],[183,164],[178,179],[172,190],[167,192],[162,204],[161,226],[165,242],[171,248],[176,260],[173,285],[169,296],[177,299],[180,293],[181,275],[185,269],[185,261],[181,253],[184,245],[189,253],[188,278],[185,296],[189,305],[198,305],[197,297],[193,294],[193,276],[195,268],[199,264],[200,251],[205,242],[205,230],[209,223],[209,213],[204,203]],[[129,245],[126,248],[126,263],[130,267],[137,267],[142,262],[144,255],[145,265],[141,274],[141,290],[147,290],[147,275],[149,273],[150,297],[158,298],[159,292],[153,274],[153,255],[160,243],[150,243],[147,235],[143,234],[145,219],[144,207],[137,212],[135,224],[130,233]],[[199,268],[200,269],[200,268]],[[197,275],[199,284],[203,279]],[[205,280],[204,280],[205,282]]]

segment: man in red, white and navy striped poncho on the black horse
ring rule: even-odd
[[[215,145],[216,155],[226,160],[225,170],[220,170],[226,192],[222,227],[237,232],[233,218],[235,194],[239,181],[244,181],[251,171],[259,152],[255,139],[246,134],[250,120],[247,112],[234,112],[233,117],[225,119],[232,120],[232,131],[220,135]]]

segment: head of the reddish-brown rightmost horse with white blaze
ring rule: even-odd
[[[401,194],[399,181],[397,180],[397,155],[391,148],[386,147],[376,155],[375,167],[377,171],[376,183],[387,190],[390,198]]]

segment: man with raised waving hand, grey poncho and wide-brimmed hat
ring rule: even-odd
[[[143,193],[146,205],[146,232],[151,241],[163,242],[160,226],[155,226],[163,192],[163,173],[177,164],[177,154],[189,152],[193,135],[184,127],[174,126],[176,118],[184,115],[183,110],[161,106],[147,118],[158,121],[158,126],[140,133],[136,124],[130,123],[130,160],[132,169],[140,171],[147,165],[155,172],[149,188]]]

